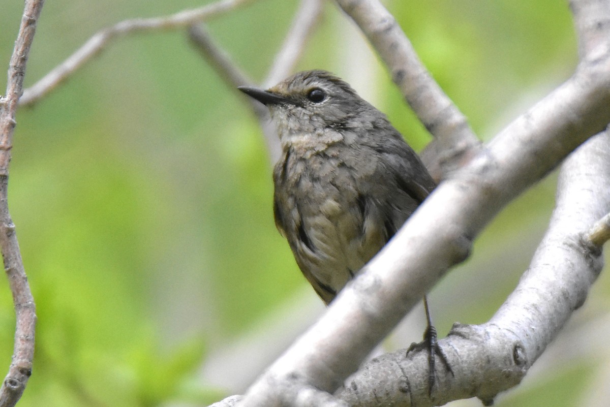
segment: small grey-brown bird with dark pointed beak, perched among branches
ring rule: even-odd
[[[386,115],[339,77],[304,71],[268,90],[239,87],[265,104],[282,155],[274,166],[273,213],[296,263],[330,303],[436,186]],[[424,297],[429,393],[439,355]]]

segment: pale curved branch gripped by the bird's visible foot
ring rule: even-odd
[[[454,377],[439,369],[437,391],[428,398],[426,351],[405,357],[400,350],[365,364],[336,396],[350,406],[432,406],[471,397],[491,405],[498,392],[520,383],[583,304],[603,258],[599,247],[579,236],[608,210],[610,133],[605,132],[565,160],[550,227],[513,294],[486,324],[455,324],[439,342]]]

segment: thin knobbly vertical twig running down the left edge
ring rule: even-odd
[[[0,407],[14,406],[32,374],[34,359],[34,333],[36,310],[34,297],[27,283],[26,272],[21,260],[21,252],[15,233],[15,225],[10,218],[7,203],[9,182],[10,149],[13,145],[15,113],[26,73],[27,55],[34,40],[36,23],[44,0],[26,1],[19,34],[15,41],[9,65],[9,82],[6,96],[0,97],[0,248],[4,260],[4,271],[9,279],[15,305],[15,346],[9,373],[0,388]]]

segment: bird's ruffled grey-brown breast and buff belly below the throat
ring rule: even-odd
[[[335,291],[385,242],[355,174],[333,149],[303,155],[294,147],[274,171],[276,222],[304,274]]]

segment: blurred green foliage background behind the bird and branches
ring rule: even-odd
[[[204,3],[46,2],[26,87],[103,27]],[[384,3],[485,140],[575,69],[567,2]],[[1,6],[2,69],[22,6]],[[254,1],[208,29],[262,80],[296,7]],[[416,150],[430,140],[332,2],[298,68],[346,79]],[[256,119],[184,30],[111,43],[33,108],[21,108],[17,122],[9,203],[39,318],[34,373],[19,406],[208,405],[243,392],[323,311],[274,227],[271,166]],[[431,292],[440,336],[454,321],[486,321],[514,288],[544,233],[555,181],[549,175],[509,205],[470,260]],[[498,406],[606,405],[609,291],[603,272]],[[14,324],[4,283],[0,372],[10,364]],[[386,348],[420,341],[424,327],[416,308]]]

